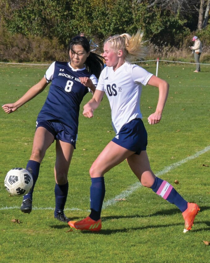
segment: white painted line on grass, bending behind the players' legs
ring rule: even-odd
[[[195,153],[194,155],[188,156],[186,158],[184,158],[183,160],[179,161],[179,162],[175,162],[174,164],[170,165],[170,166],[166,166],[163,170],[159,171],[156,173],[157,176],[160,175],[164,175],[167,172],[174,170],[175,168],[181,166],[183,163],[186,163],[190,160],[193,160],[197,157],[199,157],[201,154],[206,153],[210,150],[210,145],[207,146],[206,148],[204,148],[203,150]],[[131,186],[128,187],[127,190],[121,192],[119,195],[115,196],[114,198],[107,200],[106,202],[103,203],[103,209],[106,209],[107,207],[114,205],[116,202],[118,202],[119,199],[123,199],[126,198],[128,196],[130,196],[134,191],[136,191],[136,189],[140,188],[142,185],[140,182],[134,183]],[[9,209],[14,209],[14,208],[20,208],[19,206],[9,206],[9,207],[1,207],[0,210],[9,210]],[[34,210],[54,210],[54,208],[52,207],[33,207]],[[70,210],[70,211],[74,211],[74,210],[78,210],[78,211],[84,211],[83,209],[79,209],[79,208],[65,208],[65,210]],[[89,210],[85,210],[85,211],[89,211]]]

